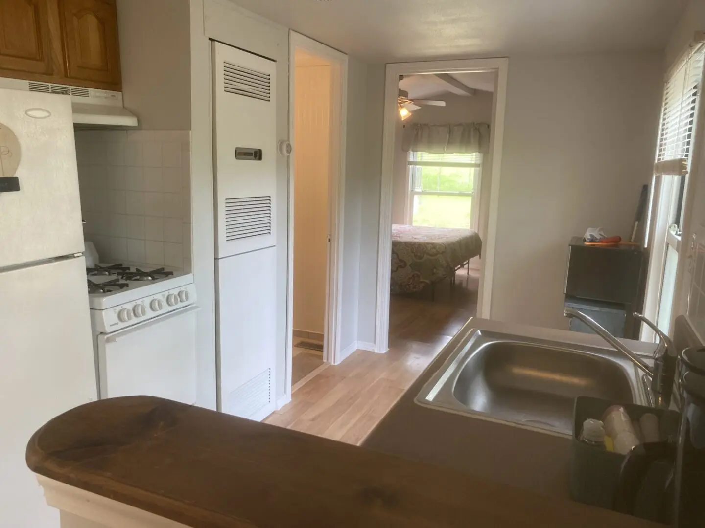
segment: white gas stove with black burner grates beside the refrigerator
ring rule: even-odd
[[[122,264],[86,274],[100,397],[195,403],[193,275]]]

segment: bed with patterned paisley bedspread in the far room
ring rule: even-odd
[[[479,256],[482,240],[472,230],[392,225],[391,293],[413,294]]]

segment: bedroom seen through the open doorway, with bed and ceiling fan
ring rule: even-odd
[[[452,336],[477,313],[482,175],[489,175],[495,73],[402,75],[392,182],[390,345]],[[398,322],[404,329],[394,332]],[[425,330],[429,332],[429,330]],[[423,339],[423,337],[422,337]],[[430,339],[429,337],[426,339]]]

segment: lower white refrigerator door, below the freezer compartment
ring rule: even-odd
[[[56,415],[97,398],[85,260],[0,272],[0,526],[56,528],[25,448]]]

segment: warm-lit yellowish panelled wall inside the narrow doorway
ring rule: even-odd
[[[298,61],[297,61],[298,62]],[[324,333],[331,66],[296,66],[293,327]]]

